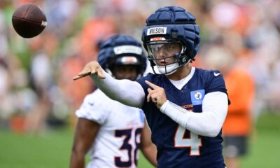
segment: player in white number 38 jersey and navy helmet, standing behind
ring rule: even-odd
[[[116,79],[136,80],[146,69],[141,43],[131,36],[115,35],[100,48],[98,62]],[[125,106],[101,90],[88,94],[76,111],[78,124],[71,167],[137,167],[138,148],[156,166],[156,147],[141,109]]]

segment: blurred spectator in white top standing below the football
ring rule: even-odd
[[[29,44],[34,53],[31,57],[31,85],[38,99],[34,108],[28,113],[26,129],[36,133],[43,131],[52,106],[49,97],[49,90],[53,83],[52,64],[50,53],[44,47],[46,42],[44,37],[47,36],[37,36]]]

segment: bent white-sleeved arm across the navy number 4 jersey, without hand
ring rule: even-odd
[[[195,134],[216,137],[228,113],[228,95],[224,92],[205,94],[202,113],[193,113],[169,101],[161,106],[160,111]]]

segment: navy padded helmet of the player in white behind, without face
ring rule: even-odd
[[[138,77],[146,70],[146,54],[141,43],[132,36],[118,34],[111,36],[100,45],[98,62],[102,68],[113,76],[113,66],[135,65]],[[115,76],[113,76],[115,77]]]

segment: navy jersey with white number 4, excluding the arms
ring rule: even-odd
[[[202,112],[202,100],[209,92],[227,92],[223,76],[218,71],[195,69],[193,77],[179,90],[165,75],[148,73],[138,83],[148,95],[145,80],[165,89],[167,99],[184,109]],[[142,109],[152,130],[152,141],[158,148],[158,167],[224,168],[221,132],[218,136],[203,137],[184,129],[161,113],[152,102],[144,102]]]

